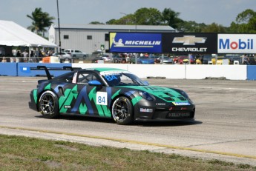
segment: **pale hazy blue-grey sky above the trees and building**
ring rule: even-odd
[[[256,0],[1,0],[0,20],[14,21],[22,27],[31,25],[27,18],[36,7],[55,17],[58,24],[89,24],[91,21],[105,23],[120,19],[136,10],[156,8],[162,12],[170,8],[180,13],[180,19],[197,23],[217,23],[229,27],[237,15],[246,9],[256,11]],[[125,13],[125,14],[123,14]]]

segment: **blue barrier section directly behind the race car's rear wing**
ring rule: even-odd
[[[37,67],[39,65],[46,66],[46,67],[71,67],[71,64],[36,64],[36,63],[17,63],[17,76],[46,76],[45,70],[30,70],[30,67]],[[57,70],[50,70],[50,75],[52,76],[59,76],[63,73],[67,73],[67,71],[57,71]]]

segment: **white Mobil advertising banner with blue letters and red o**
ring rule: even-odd
[[[256,53],[256,34],[218,34],[217,53]]]

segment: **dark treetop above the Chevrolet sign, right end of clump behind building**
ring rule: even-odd
[[[165,8],[162,12],[162,19],[164,24],[168,24],[169,26],[177,29],[183,24],[183,20],[179,18],[180,13],[176,13],[171,8]]]

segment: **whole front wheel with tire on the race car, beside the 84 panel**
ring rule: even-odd
[[[121,96],[116,98],[112,105],[112,118],[116,124],[131,124],[134,121],[133,107],[129,98]]]

